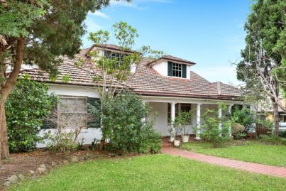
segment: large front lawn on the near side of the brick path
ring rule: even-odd
[[[286,190],[286,179],[159,154],[66,165],[11,190]]]

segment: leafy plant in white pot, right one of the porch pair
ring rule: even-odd
[[[189,134],[187,131],[187,124],[189,124],[189,121],[192,120],[192,112],[186,112],[182,111],[177,116],[177,121],[182,126],[182,142],[187,143],[189,142]]]

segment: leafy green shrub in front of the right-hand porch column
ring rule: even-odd
[[[224,104],[220,105],[222,111],[226,110]],[[213,109],[207,109],[203,115],[204,124],[202,127],[204,131],[201,133],[201,137],[204,141],[208,141],[213,144],[214,147],[222,146],[222,143],[229,141],[229,126],[230,121],[226,116],[219,117],[217,111]],[[219,122],[221,122],[221,129],[219,129]]]

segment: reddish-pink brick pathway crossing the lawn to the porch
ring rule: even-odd
[[[273,175],[273,176],[286,178],[286,168],[283,168],[283,167],[275,167],[271,165],[261,165],[257,163],[243,162],[240,160],[220,158],[220,157],[211,156],[211,155],[204,155],[200,153],[184,151],[178,148],[162,148],[161,152],[165,154],[169,154],[169,155],[181,156],[183,158],[199,160],[204,163],[222,165],[222,166],[236,168],[240,170],[248,170],[253,173],[260,173],[263,175]]]

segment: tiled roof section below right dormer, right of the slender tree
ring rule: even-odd
[[[137,72],[128,80],[135,92],[142,94],[172,95],[184,97],[238,97],[239,90],[219,82],[219,86],[205,80],[195,72],[190,79],[162,76],[148,65],[145,59]]]

